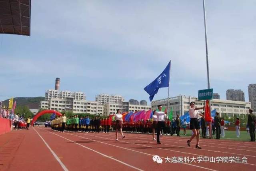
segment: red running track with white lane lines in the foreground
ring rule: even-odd
[[[186,145],[186,137],[163,136],[156,144],[152,135],[125,133],[115,141],[115,133],[61,133],[31,127],[0,135],[0,170],[256,170],[254,142],[201,139],[202,149]],[[163,162],[152,160],[160,156]],[[246,157],[247,163],[170,163],[171,157]]]

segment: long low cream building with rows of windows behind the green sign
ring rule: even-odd
[[[173,109],[173,117],[176,115],[184,115],[188,112],[190,102],[194,101],[196,103],[196,107],[203,107],[204,101],[198,101],[197,97],[179,95],[176,97],[169,98],[169,106]],[[158,105],[162,105],[167,107],[167,99],[160,99],[151,102],[152,110],[157,109]],[[227,114],[228,117],[240,114],[248,114],[249,108],[251,107],[250,102],[244,101],[232,101],[232,100],[220,100],[220,99],[212,99],[211,100],[212,110],[216,109],[219,111],[221,115]],[[170,110],[169,110],[170,111]],[[203,111],[202,109],[199,111]]]

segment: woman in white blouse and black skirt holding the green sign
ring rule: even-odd
[[[189,124],[189,129],[192,129],[193,131],[193,135],[190,137],[190,140],[187,141],[188,146],[190,147],[190,142],[192,141],[192,139],[194,137],[196,137],[196,148],[201,149],[201,147],[199,147],[199,121],[198,121],[198,117],[199,115],[202,116],[204,118],[204,115],[202,115],[198,110],[200,109],[204,109],[204,107],[199,107],[199,108],[195,108],[195,102],[192,101],[190,103],[190,109],[188,111],[189,115],[190,115],[190,124]]]

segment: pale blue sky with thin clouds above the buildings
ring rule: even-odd
[[[256,1],[206,0],[210,82],[256,84]],[[32,1],[31,36],[0,35],[0,100],[54,89],[146,99],[143,88],[172,60],[170,97],[207,88],[202,0]],[[166,98],[159,89],[154,100]]]

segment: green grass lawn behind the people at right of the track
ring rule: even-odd
[[[180,135],[181,136],[190,137],[191,132],[192,132],[191,130],[187,129],[187,134],[183,135],[184,130],[180,129]],[[175,136],[175,135],[173,135],[173,136]],[[200,135],[200,136],[202,137],[202,135]],[[213,138],[216,138],[216,135],[213,135]],[[232,139],[232,140],[237,140],[237,141],[249,141],[251,138],[250,138],[250,134],[248,134],[247,131],[240,131],[240,137],[239,138],[236,137],[236,131],[225,131],[225,137],[224,138],[220,137],[220,139]]]

